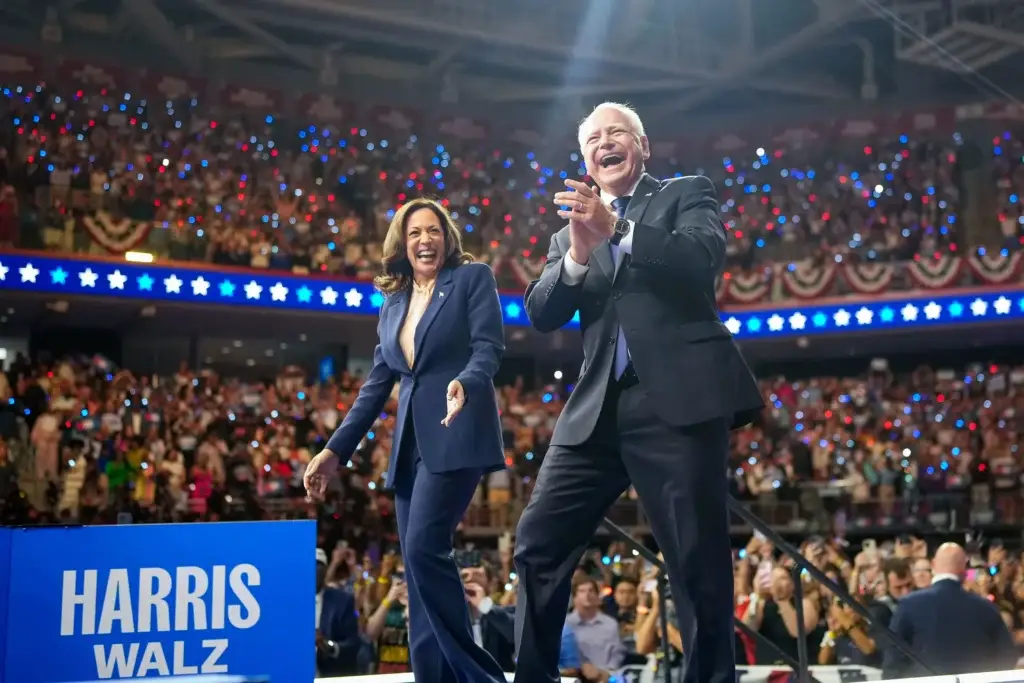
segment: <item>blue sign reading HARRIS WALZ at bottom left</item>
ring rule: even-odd
[[[312,521],[14,529],[5,681],[311,683]]]

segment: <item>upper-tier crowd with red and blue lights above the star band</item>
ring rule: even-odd
[[[0,244],[368,278],[395,207],[432,194],[469,251],[520,287],[560,226],[553,186],[586,173],[577,152],[359,121],[317,126],[108,90],[0,92]],[[1010,223],[1020,213],[1020,141],[1006,138],[995,158]],[[766,143],[703,164],[652,159],[650,171],[715,181],[731,268],[891,261],[957,249],[961,142],[935,133]]]

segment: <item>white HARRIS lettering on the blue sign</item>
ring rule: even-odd
[[[115,626],[124,634],[219,630],[225,617],[236,629],[251,629],[259,623],[260,605],[250,589],[260,585],[260,574],[252,564],[230,570],[218,564],[209,571],[184,566],[173,574],[161,567],[142,567],[135,577],[138,598],[134,603],[128,569],[111,569],[102,586],[99,581],[97,569],[63,572],[61,636],[109,635]]]

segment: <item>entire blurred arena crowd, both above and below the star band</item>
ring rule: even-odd
[[[560,227],[548,187],[585,174],[569,150],[542,154],[521,140],[429,126],[323,124],[96,84],[0,81],[0,253],[133,252],[369,280],[395,208],[432,195],[453,211],[468,251],[504,288],[521,290]],[[1019,284],[1017,120],[974,126],[970,139],[908,127],[699,156],[658,155],[649,170],[715,181],[729,230],[719,288],[726,307]],[[1024,356],[957,335],[952,353],[932,354],[922,342],[910,355],[759,360],[768,408],[733,434],[723,474],[743,505],[882,624],[901,597],[931,584],[937,546],[962,543],[966,588],[995,604],[1024,654]],[[316,519],[317,605],[333,610],[317,631],[321,673],[409,671],[393,504],[381,489],[394,401],[314,507],[304,499],[305,464],[344,419],[359,373],[312,364],[243,373],[198,358],[176,370],[166,358],[125,367],[86,346],[32,344],[0,358],[2,521]],[[567,369],[538,368],[503,370],[509,468],[481,483],[456,553],[474,633],[509,669],[511,533],[574,380]],[[651,545],[632,492],[608,514]],[[794,599],[791,564],[739,520],[733,531],[737,618],[796,657],[796,632],[779,611]],[[630,547],[595,538],[573,583],[564,671],[608,681],[660,656],[656,587],[656,570]],[[881,665],[876,627],[811,580],[804,596],[813,661]],[[773,607],[749,618],[752,601]],[[595,640],[593,630],[574,631],[581,623],[609,628]],[[669,636],[676,666],[685,643],[674,627]],[[737,632],[737,660],[778,657]]]

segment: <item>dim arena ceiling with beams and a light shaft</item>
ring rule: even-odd
[[[550,113],[626,99],[653,119],[1001,96],[993,83],[1019,81],[1022,5],[3,0],[0,40],[31,45],[42,37],[51,47],[58,38],[79,53],[116,50],[124,59],[203,75],[280,74],[349,96],[421,104]]]

